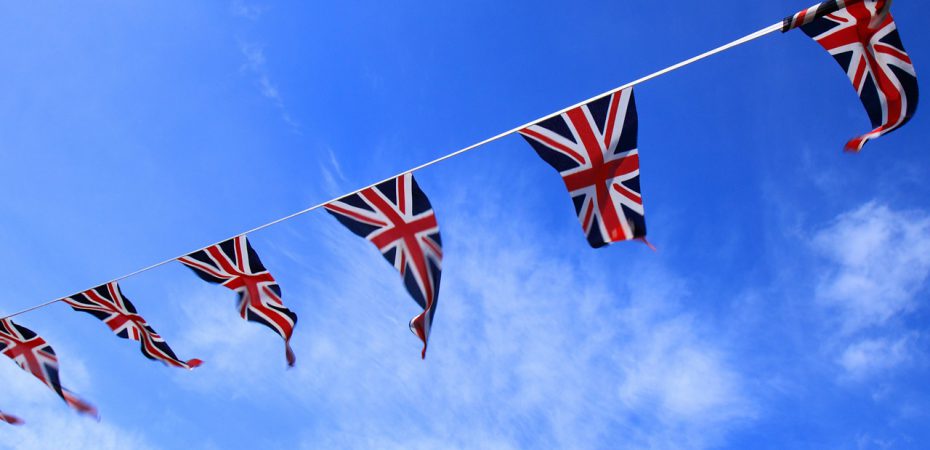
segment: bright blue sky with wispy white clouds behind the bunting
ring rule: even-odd
[[[776,22],[755,2],[0,6],[0,312],[393,175]],[[893,13],[918,73],[925,2]],[[323,212],[250,240],[297,367],[180,264],[122,283],[186,372],[54,305],[72,413],[0,364],[0,448],[917,448],[930,439],[927,115],[868,130],[832,59],[765,37],[636,90],[649,238],[594,251],[519,137],[417,173],[445,244],[430,352]]]

